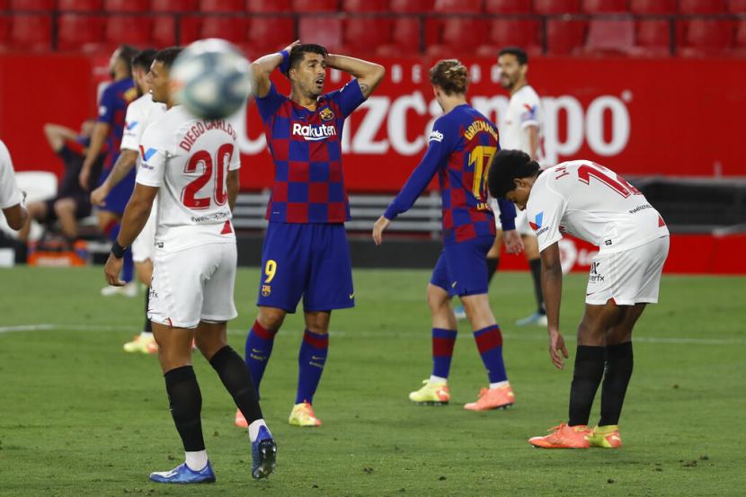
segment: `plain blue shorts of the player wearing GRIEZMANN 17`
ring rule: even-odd
[[[493,236],[479,236],[444,246],[430,282],[446,290],[451,297],[487,293],[487,253],[493,242]]]

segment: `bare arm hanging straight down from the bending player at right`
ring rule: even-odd
[[[559,243],[549,245],[541,251],[541,289],[546,305],[547,330],[549,331],[549,357],[556,368],[564,368],[564,359],[569,357],[564,338],[559,331],[559,309],[562,300],[562,264]],[[564,359],[563,359],[564,356]]]

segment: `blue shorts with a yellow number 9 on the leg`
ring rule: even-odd
[[[262,247],[257,306],[294,313],[355,306],[352,262],[342,223],[270,223]]]

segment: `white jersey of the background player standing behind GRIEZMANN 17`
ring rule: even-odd
[[[541,100],[530,85],[523,86],[511,96],[508,111],[505,112],[502,129],[500,129],[500,147],[512,150],[523,150],[531,155],[531,144],[528,141],[528,126],[536,126],[538,131],[537,157],[531,157],[540,164],[543,158],[544,127]]]

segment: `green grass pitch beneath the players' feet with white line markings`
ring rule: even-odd
[[[257,270],[240,270],[229,339],[243,355]],[[746,279],[665,277],[661,303],[635,331],[635,373],[619,450],[542,451],[527,439],[564,421],[572,361],[557,371],[532,311],[527,273],[501,273],[492,306],[516,393],[508,411],[462,405],[486,383],[466,324],[451,369],[452,404],[407,393],[431,369],[428,271],[355,271],[358,307],[334,313],[315,398],[319,429],[290,427],[301,315],[289,316],[262,384],[279,445],[277,473],[253,481],[235,407],[195,356],[203,430],[218,483],[151,484],[182,462],[154,357],[129,355],[142,296],[100,297],[101,268],[0,271],[0,495],[743,495],[746,486]],[[585,277],[565,279],[562,327],[573,337]],[[571,354],[574,342],[570,342]],[[598,420],[594,406],[591,422]]]

